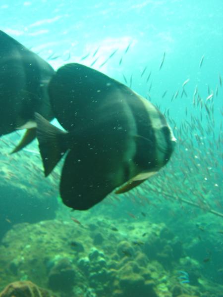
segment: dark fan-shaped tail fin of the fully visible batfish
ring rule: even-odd
[[[37,112],[35,112],[35,119],[44,173],[48,176],[68,149],[66,141],[68,133],[52,125]]]

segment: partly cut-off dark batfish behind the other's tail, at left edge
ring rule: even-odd
[[[47,85],[54,73],[37,54],[0,31],[0,136],[30,128],[14,152],[35,138],[35,111],[53,118]]]

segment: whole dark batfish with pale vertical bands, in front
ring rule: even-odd
[[[85,210],[116,187],[124,193],[164,166],[175,138],[148,100],[105,74],[71,63],[49,84],[52,108],[64,132],[36,114],[45,175],[66,152],[60,196]]]

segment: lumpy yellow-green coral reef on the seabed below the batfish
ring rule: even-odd
[[[17,224],[0,245],[0,290],[30,280],[60,297],[206,297],[199,264],[165,224],[111,226],[95,217]],[[191,284],[180,284],[182,267]]]

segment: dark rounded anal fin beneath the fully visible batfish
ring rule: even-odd
[[[65,205],[76,210],[87,210],[115,189],[115,180],[110,176],[112,161],[108,160],[109,155],[109,151],[104,156],[96,154],[89,149],[88,141],[68,151],[59,187]]]

